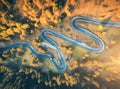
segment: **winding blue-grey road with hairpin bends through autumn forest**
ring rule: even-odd
[[[8,49],[11,49],[13,47],[18,47],[18,46],[21,46],[21,45],[25,45],[25,46],[27,46],[31,50],[31,52],[35,56],[40,57],[40,58],[48,58],[49,60],[51,60],[53,62],[53,64],[55,65],[55,67],[57,68],[58,71],[64,71],[66,69],[66,62],[65,62],[64,57],[62,55],[62,52],[58,48],[57,43],[53,39],[51,39],[48,36],[46,36],[46,34],[51,34],[51,35],[53,35],[55,37],[59,37],[59,38],[65,40],[65,41],[68,41],[68,42],[70,42],[72,44],[80,46],[80,47],[82,47],[82,48],[84,48],[84,49],[86,49],[88,51],[91,51],[91,52],[96,52],[97,53],[97,52],[101,52],[101,51],[104,50],[104,42],[98,36],[96,36],[94,33],[92,33],[90,31],[88,31],[88,30],[78,26],[76,24],[76,22],[78,22],[78,21],[94,23],[94,24],[102,24],[102,25],[106,25],[106,26],[120,27],[120,23],[118,23],[118,22],[104,22],[104,21],[99,21],[99,20],[96,20],[96,19],[80,17],[80,16],[72,18],[71,26],[75,30],[78,30],[78,31],[80,31],[80,32],[90,36],[94,40],[96,40],[99,43],[99,48],[92,48],[92,47],[88,46],[85,43],[81,43],[81,42],[78,42],[76,40],[73,40],[73,39],[71,39],[71,38],[69,38],[67,36],[64,36],[62,34],[59,34],[59,33],[55,32],[55,31],[53,31],[51,29],[43,29],[41,31],[41,33],[40,33],[40,38],[39,39],[46,40],[47,43],[43,44],[43,45],[47,45],[49,43],[51,45],[51,47],[54,50],[56,50],[56,52],[58,54],[58,58],[59,58],[58,60],[56,60],[54,58],[54,56],[51,55],[51,54],[40,54],[40,53],[38,53],[29,43],[23,42],[23,41],[22,42],[17,42],[15,44],[12,44],[12,45],[9,45],[9,46],[1,47],[0,48],[0,52],[3,52],[3,51],[8,50]]]

